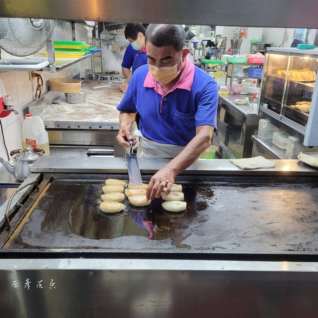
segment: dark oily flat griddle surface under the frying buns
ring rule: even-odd
[[[126,180],[127,181],[127,180]],[[187,209],[162,199],[124,212],[99,210],[104,182],[53,181],[5,248],[153,252],[318,251],[317,184],[183,184]]]

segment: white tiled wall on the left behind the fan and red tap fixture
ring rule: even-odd
[[[75,24],[76,40],[85,41],[87,44],[91,43],[92,29],[81,24]],[[53,39],[60,41],[72,41],[71,23],[64,21],[57,21],[54,29]],[[46,50],[44,48],[43,50]],[[42,51],[42,50],[41,50]],[[2,59],[17,59],[6,52],[1,51]],[[80,73],[83,75],[86,69],[91,69],[91,58],[84,59],[76,64],[68,66],[67,68],[58,72],[58,77],[71,78]],[[48,82],[52,77],[57,77],[55,73],[42,72],[44,94],[48,91]],[[19,114],[13,112],[1,118],[3,127],[4,140],[10,155],[10,151],[22,148],[22,123],[24,114],[27,113],[28,106],[34,101],[35,90],[37,87],[37,80],[29,80],[29,73],[24,71],[8,71],[0,72],[0,97],[4,95],[11,95],[13,97],[13,105],[17,108]],[[1,133],[0,133],[1,135]],[[7,160],[6,151],[3,145],[3,137],[1,135],[0,142],[0,156]],[[12,157],[10,157],[12,159]],[[0,163],[2,166],[2,164]],[[0,204],[4,201],[15,189],[0,188]]]

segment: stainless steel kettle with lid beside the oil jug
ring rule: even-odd
[[[25,147],[24,149],[12,150],[10,152],[13,160],[6,162],[3,158],[0,158],[0,162],[17,180],[24,181],[31,174],[30,167],[32,164],[43,154],[44,149]]]

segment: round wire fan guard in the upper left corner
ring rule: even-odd
[[[0,18],[0,47],[14,56],[40,51],[52,37],[56,20]]]

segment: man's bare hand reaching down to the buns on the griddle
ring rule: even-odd
[[[165,166],[160,169],[150,179],[146,193],[147,200],[159,198],[161,196],[163,188],[167,188],[167,191],[165,193],[168,195],[175,181],[175,177],[176,173],[169,167]]]

